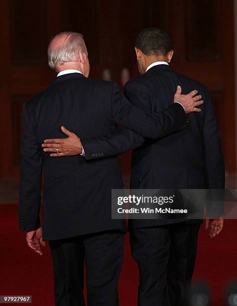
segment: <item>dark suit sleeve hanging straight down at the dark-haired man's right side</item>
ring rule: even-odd
[[[221,151],[221,140],[218,126],[207,90],[205,101],[203,146],[205,155],[205,172],[210,201],[206,206],[207,216],[217,217],[224,213],[224,159]],[[218,189],[218,190],[216,190]]]

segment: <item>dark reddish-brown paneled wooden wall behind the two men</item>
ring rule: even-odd
[[[60,31],[83,33],[91,77],[121,81],[126,67],[138,74],[136,33],[166,29],[175,51],[172,66],[209,87],[223,143],[226,170],[235,171],[232,0],[1,0],[0,178],[17,179],[21,110],[25,100],[55,77],[47,67],[48,40]],[[120,157],[123,172],[129,162]]]

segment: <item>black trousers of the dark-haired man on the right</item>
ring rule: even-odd
[[[138,306],[186,306],[200,224],[186,222],[130,231],[138,264]]]

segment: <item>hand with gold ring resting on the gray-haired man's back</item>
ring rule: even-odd
[[[50,153],[51,157],[59,156],[70,156],[82,153],[82,145],[80,138],[76,134],[70,132],[64,126],[61,126],[61,130],[66,134],[67,138],[57,138],[57,139],[45,139],[42,144],[44,152]]]

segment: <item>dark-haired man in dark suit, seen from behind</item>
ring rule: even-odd
[[[184,92],[197,88],[204,104],[200,106],[201,112],[188,114],[186,129],[156,139],[146,138],[142,146],[133,150],[131,188],[224,188],[224,162],[208,89],[169,66],[173,50],[164,30],[142,30],[136,39],[135,52],[141,75],[129,80],[124,87],[132,104],[148,113],[163,110],[170,104],[177,85]],[[103,156],[123,152],[121,143],[126,140],[119,137],[118,133],[113,133],[100,138],[81,138],[85,158],[98,158],[94,152],[99,151],[103,151]],[[44,146],[54,152],[52,156],[58,155],[55,153],[56,146],[61,148],[59,156],[81,153],[81,143],[75,135],[46,142],[50,142]],[[139,306],[186,305],[201,222],[129,220],[131,251],[140,275]],[[206,227],[209,222],[207,219]],[[222,218],[212,219],[210,237],[218,234],[222,226]]]

